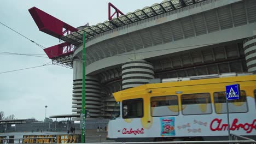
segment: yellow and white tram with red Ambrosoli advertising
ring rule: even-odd
[[[163,79],[114,93],[120,116],[109,122],[108,137],[124,141],[226,136],[225,86],[235,83],[240,85],[240,99],[228,103],[231,133],[255,136],[256,75],[219,74]]]

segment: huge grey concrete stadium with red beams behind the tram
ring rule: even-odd
[[[69,28],[66,35],[49,31],[43,32],[65,43],[46,54],[73,68],[74,120],[82,107],[84,32],[90,118],[111,118],[120,111],[112,93],[150,79],[256,71],[255,0],[163,1],[95,26]]]

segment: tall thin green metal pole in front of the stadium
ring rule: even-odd
[[[85,32],[83,33],[82,143],[85,143]]]

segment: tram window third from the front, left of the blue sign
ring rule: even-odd
[[[211,114],[210,93],[195,93],[181,95],[183,115]]]

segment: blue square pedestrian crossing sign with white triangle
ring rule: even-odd
[[[240,97],[240,86],[239,84],[226,86],[226,99],[234,100],[239,99]]]

